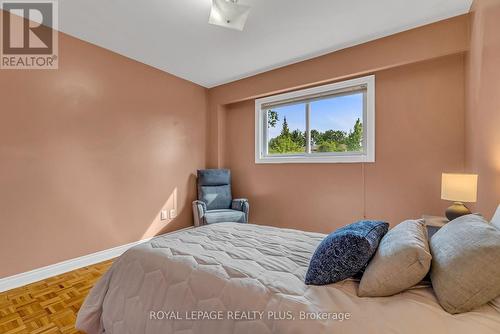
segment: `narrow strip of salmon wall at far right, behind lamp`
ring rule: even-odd
[[[466,159],[479,174],[477,211],[500,203],[500,0],[476,0],[467,54]]]

